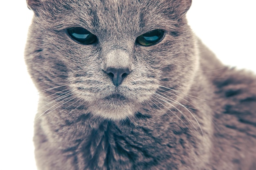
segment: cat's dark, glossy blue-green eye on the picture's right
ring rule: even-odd
[[[153,31],[144,33],[137,37],[136,42],[142,46],[150,46],[157,44],[164,36],[164,31],[161,29],[155,29]]]

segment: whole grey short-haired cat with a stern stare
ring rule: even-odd
[[[187,24],[191,0],[27,0],[38,170],[255,170],[256,76]]]

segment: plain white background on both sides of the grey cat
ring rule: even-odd
[[[189,24],[223,63],[256,72],[255,6],[253,0],[193,0]],[[0,170],[36,170],[32,136],[38,97],[23,61],[32,15],[25,0],[1,2]]]

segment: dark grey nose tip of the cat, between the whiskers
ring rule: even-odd
[[[115,86],[119,86],[124,78],[130,73],[129,68],[107,68],[106,73],[112,79]]]

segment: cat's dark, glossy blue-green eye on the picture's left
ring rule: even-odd
[[[67,29],[70,37],[81,44],[89,45],[97,41],[96,35],[90,33],[88,30],[81,27],[72,27]]]

